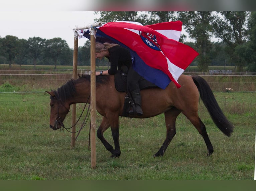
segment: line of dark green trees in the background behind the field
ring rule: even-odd
[[[256,72],[256,12],[243,11],[101,11],[95,22],[135,21],[143,25],[180,20],[187,36],[180,42],[193,47],[199,56],[191,63],[202,72],[208,66],[236,66],[238,72],[247,67]],[[190,41],[187,40],[190,39]],[[217,38],[218,41],[213,41]],[[73,49],[61,38],[18,39],[7,35],[0,37],[0,64],[72,65]],[[107,59],[96,65],[108,65]],[[78,48],[78,65],[90,65],[90,41]]]

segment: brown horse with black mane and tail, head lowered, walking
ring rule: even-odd
[[[177,89],[173,82],[165,90],[150,88],[141,91],[143,115],[136,118],[148,118],[164,113],[166,138],[153,156],[163,156],[170,141],[176,134],[175,121],[183,113],[203,136],[207,146],[207,154],[213,153],[213,146],[206,132],[204,123],[198,116],[199,98],[203,100],[216,126],[227,136],[233,132],[233,125],[220,109],[207,82],[199,76],[181,75],[178,79],[181,88]],[[200,97],[199,97],[200,92]],[[90,103],[90,76],[85,75],[71,80],[50,94],[50,127],[53,130],[64,127],[63,120],[73,103]],[[97,136],[111,152],[112,157],[121,154],[119,146],[119,116],[122,115],[125,92],[118,92],[114,84],[114,76],[96,77],[96,109],[103,116],[97,130]],[[103,133],[111,127],[115,147],[108,143]],[[64,127],[65,128],[65,127]]]

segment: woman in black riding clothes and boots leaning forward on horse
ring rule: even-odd
[[[141,109],[141,95],[138,81],[141,76],[133,70],[132,68],[132,59],[130,51],[118,44],[110,43],[99,43],[95,44],[95,56],[98,59],[103,57],[108,58],[110,62],[110,69],[106,71],[96,72],[96,76],[99,75],[114,75],[117,70],[122,70],[122,72],[127,74],[127,89],[131,94],[131,97],[134,101],[135,108],[129,111],[129,114],[138,114],[143,115]],[[126,70],[125,70],[126,68]]]

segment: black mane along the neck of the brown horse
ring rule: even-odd
[[[96,88],[100,87],[102,85],[107,85],[109,83],[110,76],[96,76]],[[82,75],[79,76],[79,79],[77,80],[70,80],[60,88],[58,88],[57,93],[58,96],[62,99],[62,101],[65,101],[71,97],[74,97],[76,94],[76,88],[75,85],[79,83],[84,82],[91,82],[91,76],[90,75]]]

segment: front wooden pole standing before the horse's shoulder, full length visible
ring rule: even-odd
[[[96,168],[96,70],[95,70],[95,29],[91,28],[91,168]]]

